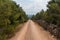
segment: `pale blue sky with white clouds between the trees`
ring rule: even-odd
[[[19,4],[28,15],[36,14],[42,9],[46,10],[49,0],[13,0]]]

